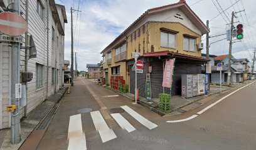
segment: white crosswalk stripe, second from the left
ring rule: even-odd
[[[109,129],[107,123],[104,118],[100,114],[100,111],[93,111],[90,113],[92,116],[92,121],[97,131],[100,133],[100,138],[102,139],[102,143],[110,141],[111,139],[117,138],[114,131]]]

